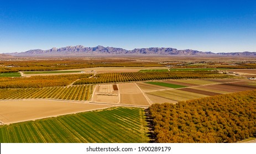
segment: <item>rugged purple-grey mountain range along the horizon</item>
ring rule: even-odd
[[[177,50],[176,48],[151,47],[135,48],[134,50],[125,50],[115,47],[83,47],[67,46],[61,48],[51,48],[50,50],[29,50],[26,52],[6,53],[11,56],[111,56],[111,55],[157,55],[157,56],[256,56],[256,52],[232,52],[232,53],[213,53],[201,52],[197,50]]]

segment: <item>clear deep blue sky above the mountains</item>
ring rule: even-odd
[[[76,45],[256,51],[256,1],[1,1],[0,53]]]

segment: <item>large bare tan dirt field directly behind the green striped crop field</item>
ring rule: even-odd
[[[0,101],[0,121],[18,123],[107,107],[112,106],[51,100]]]

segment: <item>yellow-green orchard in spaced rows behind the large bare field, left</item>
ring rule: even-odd
[[[29,89],[0,89],[0,99],[48,98],[58,100],[90,100],[92,85]]]

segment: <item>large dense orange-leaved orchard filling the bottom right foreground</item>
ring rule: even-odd
[[[256,90],[149,108],[157,142],[237,142],[256,137]]]

